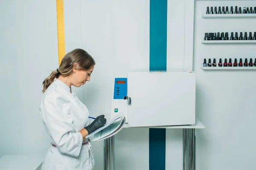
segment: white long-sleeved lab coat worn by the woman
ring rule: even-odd
[[[47,88],[40,114],[47,133],[57,146],[49,144],[41,170],[93,170],[92,146],[90,142],[82,146],[79,133],[90,124],[89,111],[64,82],[55,79]]]

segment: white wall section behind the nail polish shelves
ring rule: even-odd
[[[256,58],[255,44],[201,44],[205,32],[256,31],[256,19],[202,19],[207,6],[256,6],[255,0],[195,3],[194,71],[196,113],[206,129],[197,131],[197,170],[252,170],[256,161],[255,71],[203,71],[204,58]],[[234,7],[233,7],[234,8]]]

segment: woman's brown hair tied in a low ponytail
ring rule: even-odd
[[[68,76],[72,73],[74,65],[77,65],[76,69],[84,69],[89,70],[93,65],[95,65],[95,61],[93,57],[90,56],[83,49],[74,49],[67,53],[64,58],[61,60],[60,67],[52,71],[52,73],[47,77],[43,82],[43,90],[44,93],[49,85],[52,84],[55,78],[61,76]]]

